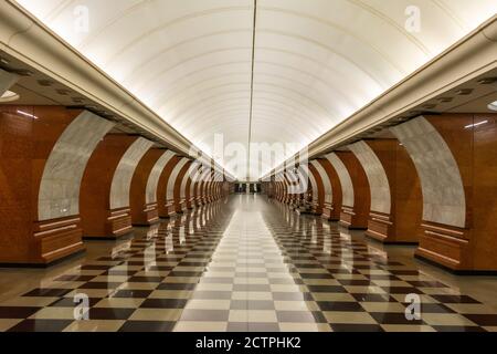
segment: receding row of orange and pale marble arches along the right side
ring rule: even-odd
[[[495,114],[419,116],[391,127],[385,138],[273,174],[265,189],[383,243],[417,243],[416,257],[451,271],[493,272],[496,150]]]

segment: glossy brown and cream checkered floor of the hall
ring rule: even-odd
[[[497,331],[489,306],[263,197],[156,225],[43,283],[0,303],[0,331]]]

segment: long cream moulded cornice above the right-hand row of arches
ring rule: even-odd
[[[497,15],[308,145],[309,159],[497,67]],[[290,162],[292,157],[287,162]],[[274,169],[284,169],[285,163]],[[265,179],[268,176],[263,176]]]

